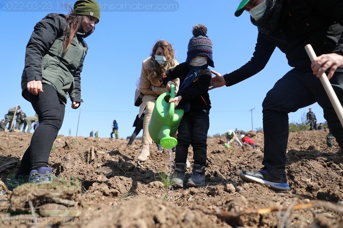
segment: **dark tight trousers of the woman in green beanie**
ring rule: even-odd
[[[52,86],[43,84],[43,91],[38,95],[27,90],[23,92],[23,97],[38,114],[39,128],[32,135],[16,176],[27,176],[33,169],[48,166],[51,148],[62,126],[66,106],[60,102]]]

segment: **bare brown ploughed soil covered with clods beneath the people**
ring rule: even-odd
[[[31,135],[2,132],[0,227],[343,227],[343,159],[336,143],[327,147],[327,134],[290,133],[290,191],[239,178],[242,170],[262,168],[261,132],[252,138],[256,149],[208,138],[205,187],[178,189],[167,186],[171,151],[159,153],[154,144],[149,159],[138,163],[140,140],[126,146],[125,139],[59,135],[49,160],[54,182],[6,192],[3,183]]]

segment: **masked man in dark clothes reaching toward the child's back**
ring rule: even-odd
[[[248,11],[258,29],[252,58],[237,70],[221,75],[212,71],[212,87],[232,86],[260,72],[277,47],[292,69],[267,93],[263,103],[264,158],[260,171],[242,171],[244,181],[290,190],[286,177],[288,114],[315,102],[323,108],[332,135],[343,147],[343,128],[319,78],[328,79],[343,103],[343,2],[341,0],[242,0],[235,11]],[[305,46],[316,55],[311,62]],[[314,75],[313,75],[314,74]],[[266,75],[267,77],[267,75]]]

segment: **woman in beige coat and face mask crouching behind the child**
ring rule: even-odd
[[[141,162],[146,161],[149,157],[149,147],[153,143],[153,140],[149,135],[148,125],[155,107],[156,99],[162,93],[167,92],[166,87],[162,84],[162,74],[179,64],[174,57],[175,53],[171,44],[167,41],[159,40],[155,43],[151,56],[146,58],[142,64],[140,90],[144,95],[142,98],[143,102],[139,107],[139,117],[144,110],[145,116],[143,122],[142,152],[137,158],[138,161]],[[176,79],[174,82],[177,84],[177,91],[179,79]]]

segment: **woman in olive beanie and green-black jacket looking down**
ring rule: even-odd
[[[10,187],[23,182],[52,181],[48,160],[65,115],[67,97],[72,109],[79,108],[83,60],[88,46],[84,41],[100,19],[99,4],[78,0],[69,15],[50,13],[34,27],[26,47],[22,95],[38,115],[34,131]]]

